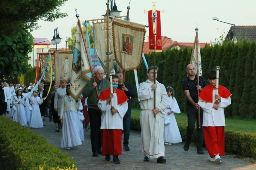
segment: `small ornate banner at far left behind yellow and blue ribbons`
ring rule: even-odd
[[[40,76],[42,76],[42,73],[44,71],[44,67],[45,67],[48,55],[49,55],[49,53],[39,53]],[[54,70],[55,69],[54,53],[51,53],[51,58],[52,58],[52,70]],[[49,62],[47,64],[47,67],[46,67],[46,70],[45,70],[45,73],[43,75],[42,80],[45,81],[45,82],[50,82],[51,81],[51,67],[49,65]]]

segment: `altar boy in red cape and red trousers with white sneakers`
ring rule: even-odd
[[[208,160],[221,163],[225,155],[225,115],[224,108],[231,104],[231,93],[224,86],[218,86],[216,94],[216,70],[207,74],[210,85],[199,93],[198,104],[203,109],[203,133],[206,148],[209,152]],[[218,100],[218,103],[215,101]]]

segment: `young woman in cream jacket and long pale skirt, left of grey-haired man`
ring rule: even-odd
[[[61,148],[70,149],[70,147],[82,145],[77,130],[77,122],[80,121],[77,116],[77,109],[80,106],[81,98],[80,96],[79,99],[75,101],[75,99],[70,96],[70,85],[67,85],[67,95],[62,97],[60,107],[60,123],[63,123]]]

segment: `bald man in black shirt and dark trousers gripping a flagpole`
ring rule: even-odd
[[[183,147],[185,151],[188,151],[189,144],[191,142],[194,128],[195,128],[195,122],[197,121],[197,139],[196,139],[196,146],[197,146],[197,153],[198,154],[204,154],[202,150],[203,145],[203,109],[200,108],[198,104],[198,94],[197,90],[202,90],[205,86],[208,84],[206,83],[205,79],[201,76],[199,76],[199,86],[197,85],[197,78],[196,78],[196,70],[195,66],[193,64],[189,64],[186,67],[186,72],[188,73],[188,77],[183,80],[182,87],[184,94],[187,98],[187,136],[186,136],[186,142]],[[198,126],[198,109],[200,108],[200,127]]]

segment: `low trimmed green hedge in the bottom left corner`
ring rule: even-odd
[[[11,119],[0,117],[0,167],[13,169],[76,169],[74,160],[46,138]]]

